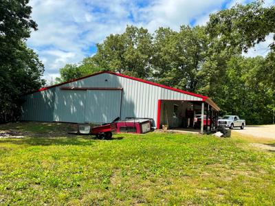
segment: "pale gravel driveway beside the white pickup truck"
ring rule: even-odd
[[[243,130],[234,128],[234,132],[254,137],[275,139],[275,124],[263,126],[245,126]]]

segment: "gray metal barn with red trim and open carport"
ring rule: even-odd
[[[175,128],[188,126],[195,113],[214,118],[217,111],[219,107],[206,96],[102,71],[26,95],[21,119],[100,123],[144,117],[153,119],[156,128],[162,124]]]

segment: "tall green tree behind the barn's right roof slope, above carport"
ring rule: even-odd
[[[155,32],[153,68],[157,81],[188,91],[197,89],[197,73],[206,57],[208,37],[204,27],[181,26],[179,32]]]

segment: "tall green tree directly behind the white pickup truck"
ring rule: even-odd
[[[236,56],[228,61],[225,82],[219,105],[225,113],[237,113],[248,124],[271,122],[271,88],[266,87],[256,74],[263,67],[263,57]]]

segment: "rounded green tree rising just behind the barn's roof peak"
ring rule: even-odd
[[[92,57],[100,68],[139,78],[151,74],[152,39],[148,30],[127,26],[123,34],[111,34]]]

